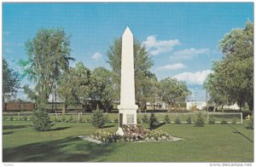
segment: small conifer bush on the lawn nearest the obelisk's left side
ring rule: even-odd
[[[96,128],[102,128],[107,122],[107,117],[103,114],[102,110],[96,109],[92,112],[91,123]]]

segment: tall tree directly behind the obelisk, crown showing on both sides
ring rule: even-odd
[[[153,66],[153,61],[148,55],[146,48],[138,40],[134,40],[134,72],[135,72],[135,96],[137,104],[140,106],[147,99],[148,91],[150,90],[150,78],[154,74],[149,72],[149,68]],[[120,91],[120,76],[121,76],[121,52],[122,38],[115,39],[110,45],[107,56],[107,62],[113,71],[113,81]],[[118,93],[119,99],[119,93]]]

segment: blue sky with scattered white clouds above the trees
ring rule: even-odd
[[[253,21],[253,3],[3,3],[3,57],[20,71],[24,43],[40,28],[62,27],[72,35],[75,62],[110,69],[108,47],[129,26],[148,49],[159,80],[184,80],[203,99],[212,60],[223,56],[218,41],[247,20]]]

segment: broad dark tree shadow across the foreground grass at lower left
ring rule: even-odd
[[[3,149],[3,162],[104,161],[115,147],[113,144],[96,144],[78,137],[67,137]]]

